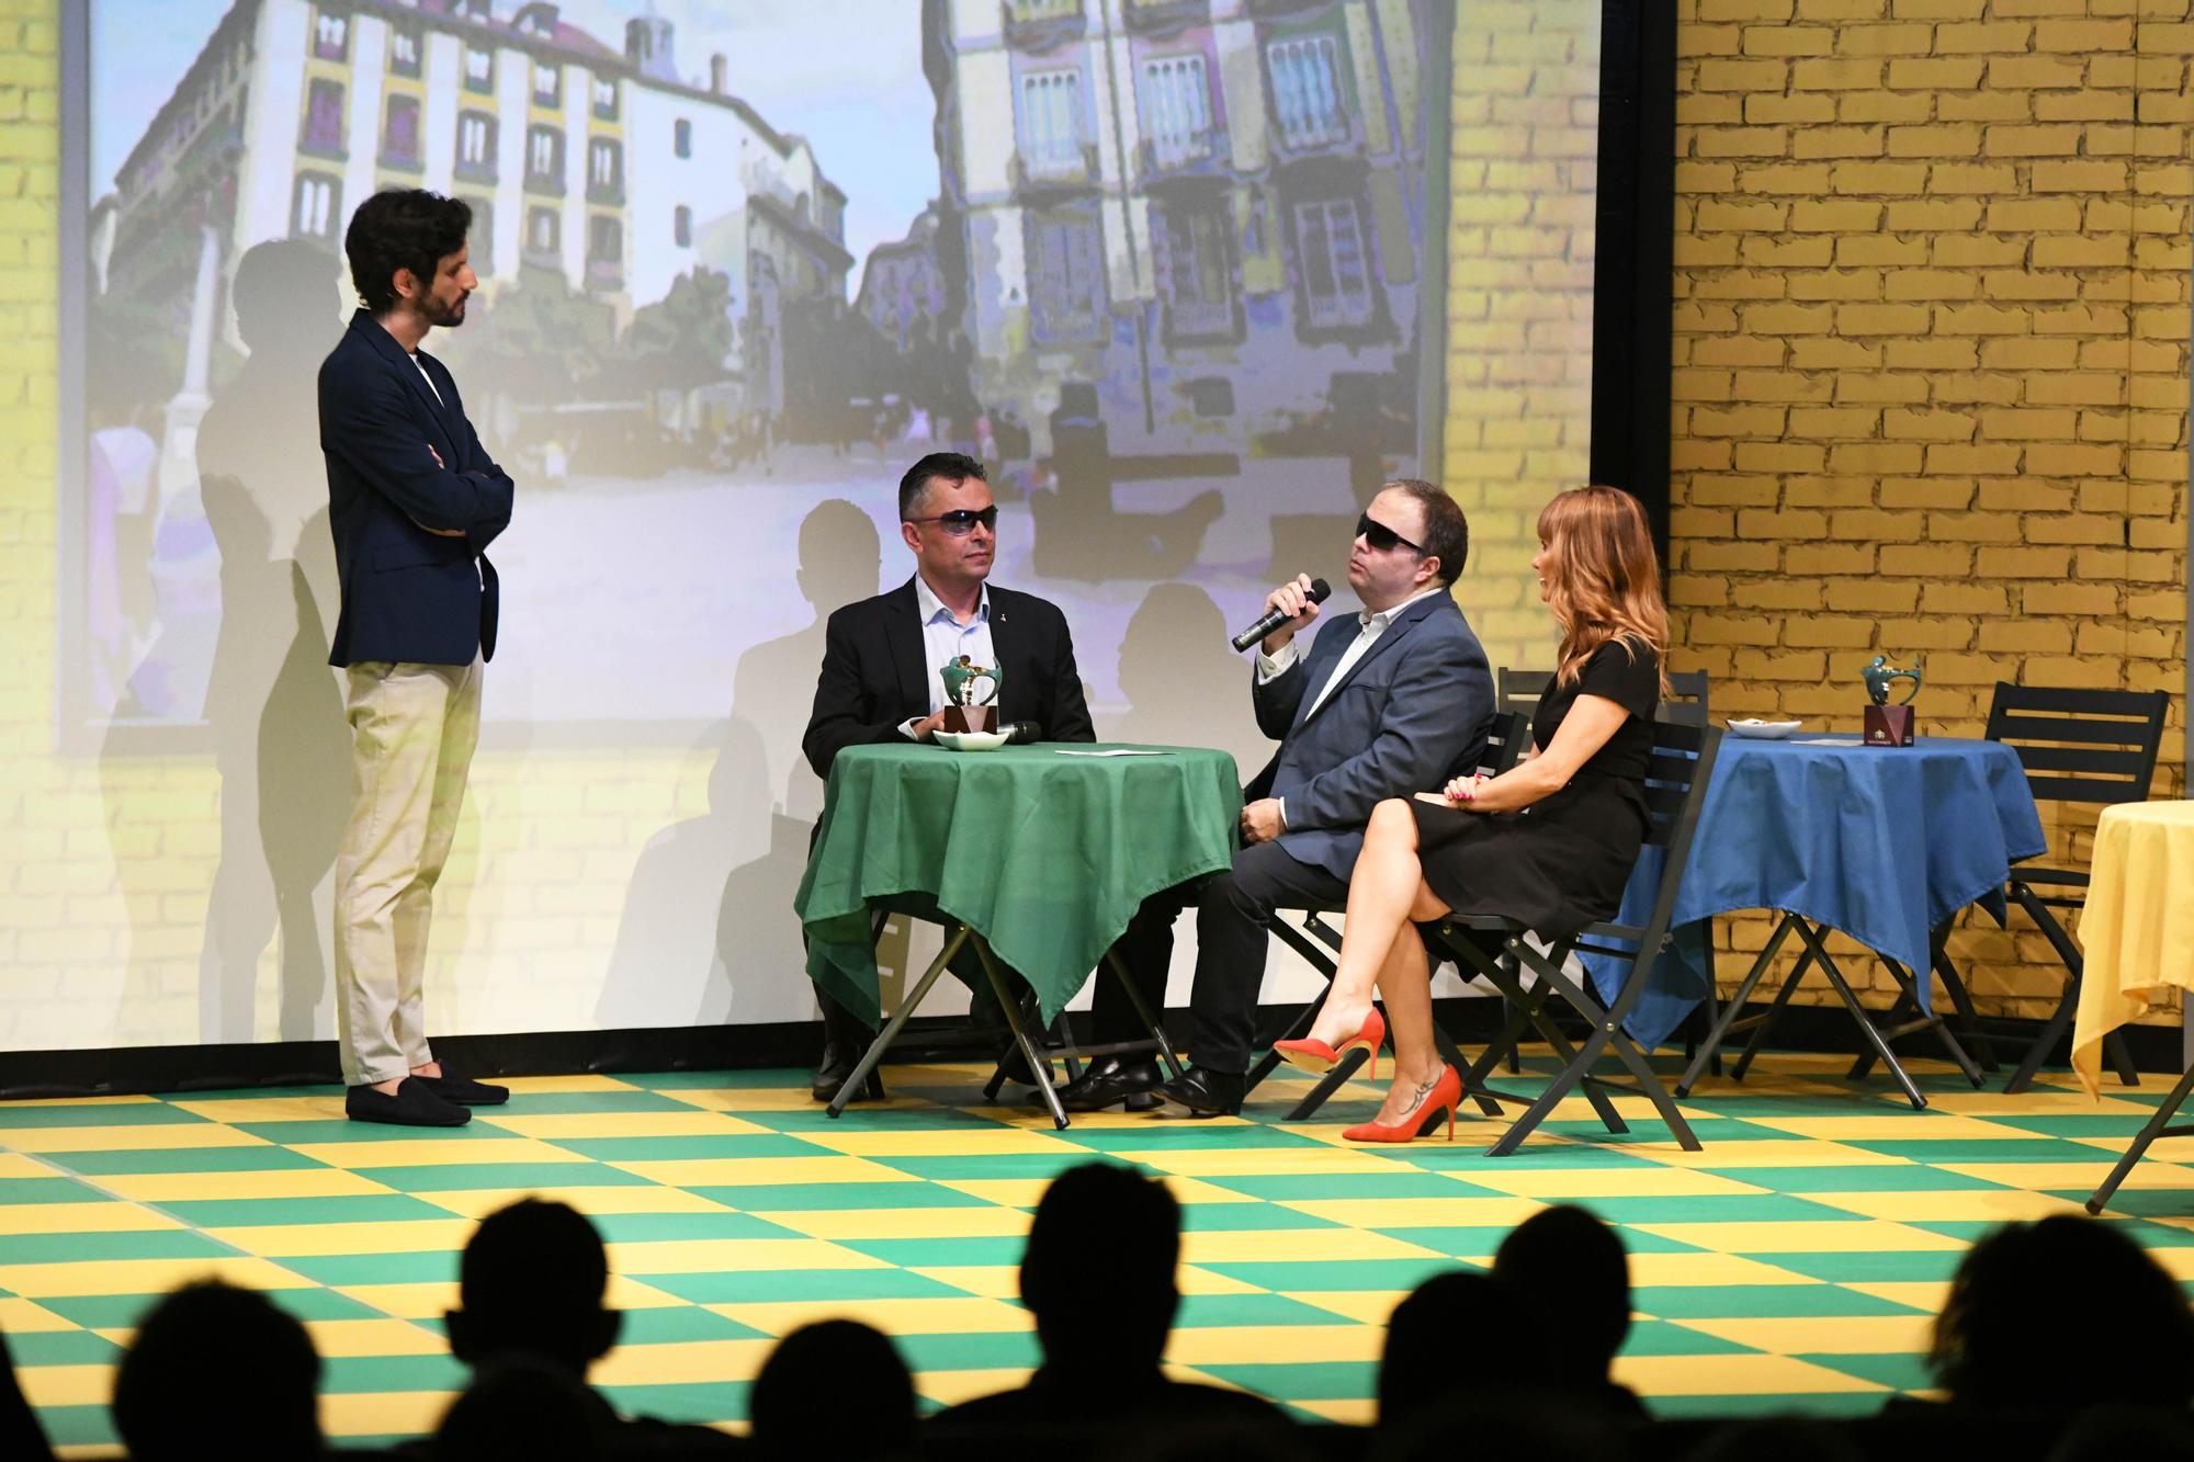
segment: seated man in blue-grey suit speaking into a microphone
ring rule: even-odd
[[[1062,1091],[1071,1106],[1156,1089],[1196,1115],[1242,1109],[1273,913],[1343,902],[1371,808],[1437,788],[1485,746],[1492,674],[1448,595],[1468,549],[1455,498],[1402,479],[1356,520],[1349,588],[1360,615],[1330,626],[1305,656],[1294,637],[1319,617],[1310,580],[1266,599],[1292,619],[1257,652],[1257,724],[1279,753],[1244,792],[1242,850],[1229,871],[1150,898],[1119,942],[1143,988],[1163,990],[1174,918],[1196,904],[1194,1067],[1158,1084],[1154,1060],[1099,1060]]]

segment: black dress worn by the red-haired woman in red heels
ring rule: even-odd
[[[1540,749],[1577,696],[1630,711],[1560,792],[1518,812],[1468,812],[1411,801],[1424,882],[1457,913],[1499,913],[1536,933],[1573,935],[1615,918],[1646,841],[1646,768],[1661,661],[1635,639],[1608,641],[1573,685],[1549,687],[1531,718]]]

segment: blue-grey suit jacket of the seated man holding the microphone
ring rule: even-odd
[[[1253,689],[1257,727],[1279,738],[1279,753],[1248,795],[1283,799],[1279,845],[1334,878],[1356,867],[1371,808],[1477,766],[1494,718],[1485,652],[1446,593],[1404,606],[1312,711],[1360,632],[1356,615],[1334,619],[1308,654]]]

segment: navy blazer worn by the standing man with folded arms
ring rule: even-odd
[[[320,450],[342,580],[327,663],[494,659],[496,566],[485,549],[511,520],[511,479],[480,448],[450,371],[426,351],[412,364],[360,310],[320,364]]]

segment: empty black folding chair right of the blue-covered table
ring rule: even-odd
[[[1997,681],[1983,735],[2018,753],[2034,801],[2111,808],[2126,801],[2148,801],[2148,788],[2157,775],[2157,753],[2163,746],[2168,707],[2170,694],[2165,691],[2054,689]],[[1942,955],[1942,935],[1948,926],[1935,937],[1935,972],[1972,1030],[1975,1054],[1990,1069],[1994,1069],[1992,1043],[2027,1047],[2018,1069],[2003,1084],[2005,1091],[2025,1091],[2034,1084],[2034,1073],[2040,1071],[2043,1062],[2069,1038],[2073,1014],[2080,1010],[2080,948],[2065,933],[2056,911],[2078,909],[2084,902],[2086,874],[2069,867],[2021,865],[2012,869],[2003,896],[2027,911],[2027,918],[2065,964],[2065,990],[2040,1032],[1972,1014],[1966,981]],[[1900,994],[1898,1008],[1902,1010],[1907,1003],[1909,997]],[[2119,1032],[2113,1030],[2104,1036],[2102,1049],[2122,1084],[2141,1084]]]

